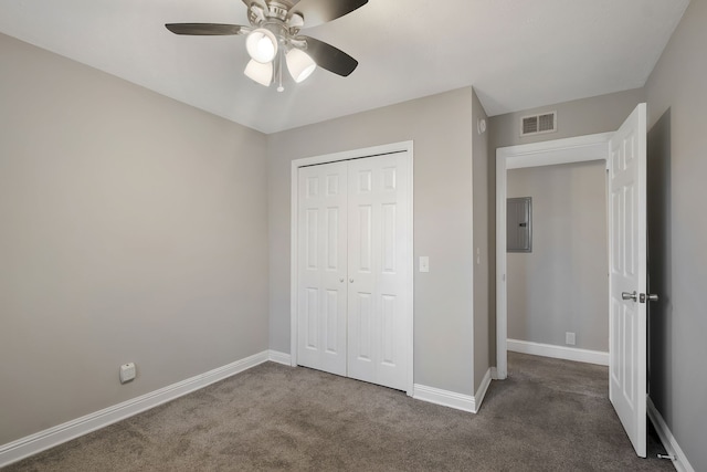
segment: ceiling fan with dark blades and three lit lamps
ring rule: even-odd
[[[221,23],[168,23],[175,34],[246,35],[251,61],[245,75],[264,85],[277,83],[284,91],[284,64],[296,83],[303,82],[317,66],[348,76],[358,61],[344,51],[317,39],[300,35],[305,28],[336,20],[363,7],[368,0],[243,0],[250,27]]]

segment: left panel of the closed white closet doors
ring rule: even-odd
[[[346,375],[347,162],[299,169],[297,361]]]

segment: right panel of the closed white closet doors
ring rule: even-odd
[[[411,307],[407,282],[405,154],[349,162],[348,375],[407,389]]]

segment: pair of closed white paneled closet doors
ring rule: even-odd
[[[297,363],[408,389],[407,153],[299,168]]]

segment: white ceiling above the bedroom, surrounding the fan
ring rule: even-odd
[[[330,0],[337,1],[337,0]],[[274,133],[474,85],[489,115],[644,85],[689,0],[370,0],[305,29],[359,61],[277,93],[243,75],[241,0],[2,0],[0,32],[233,122]]]

